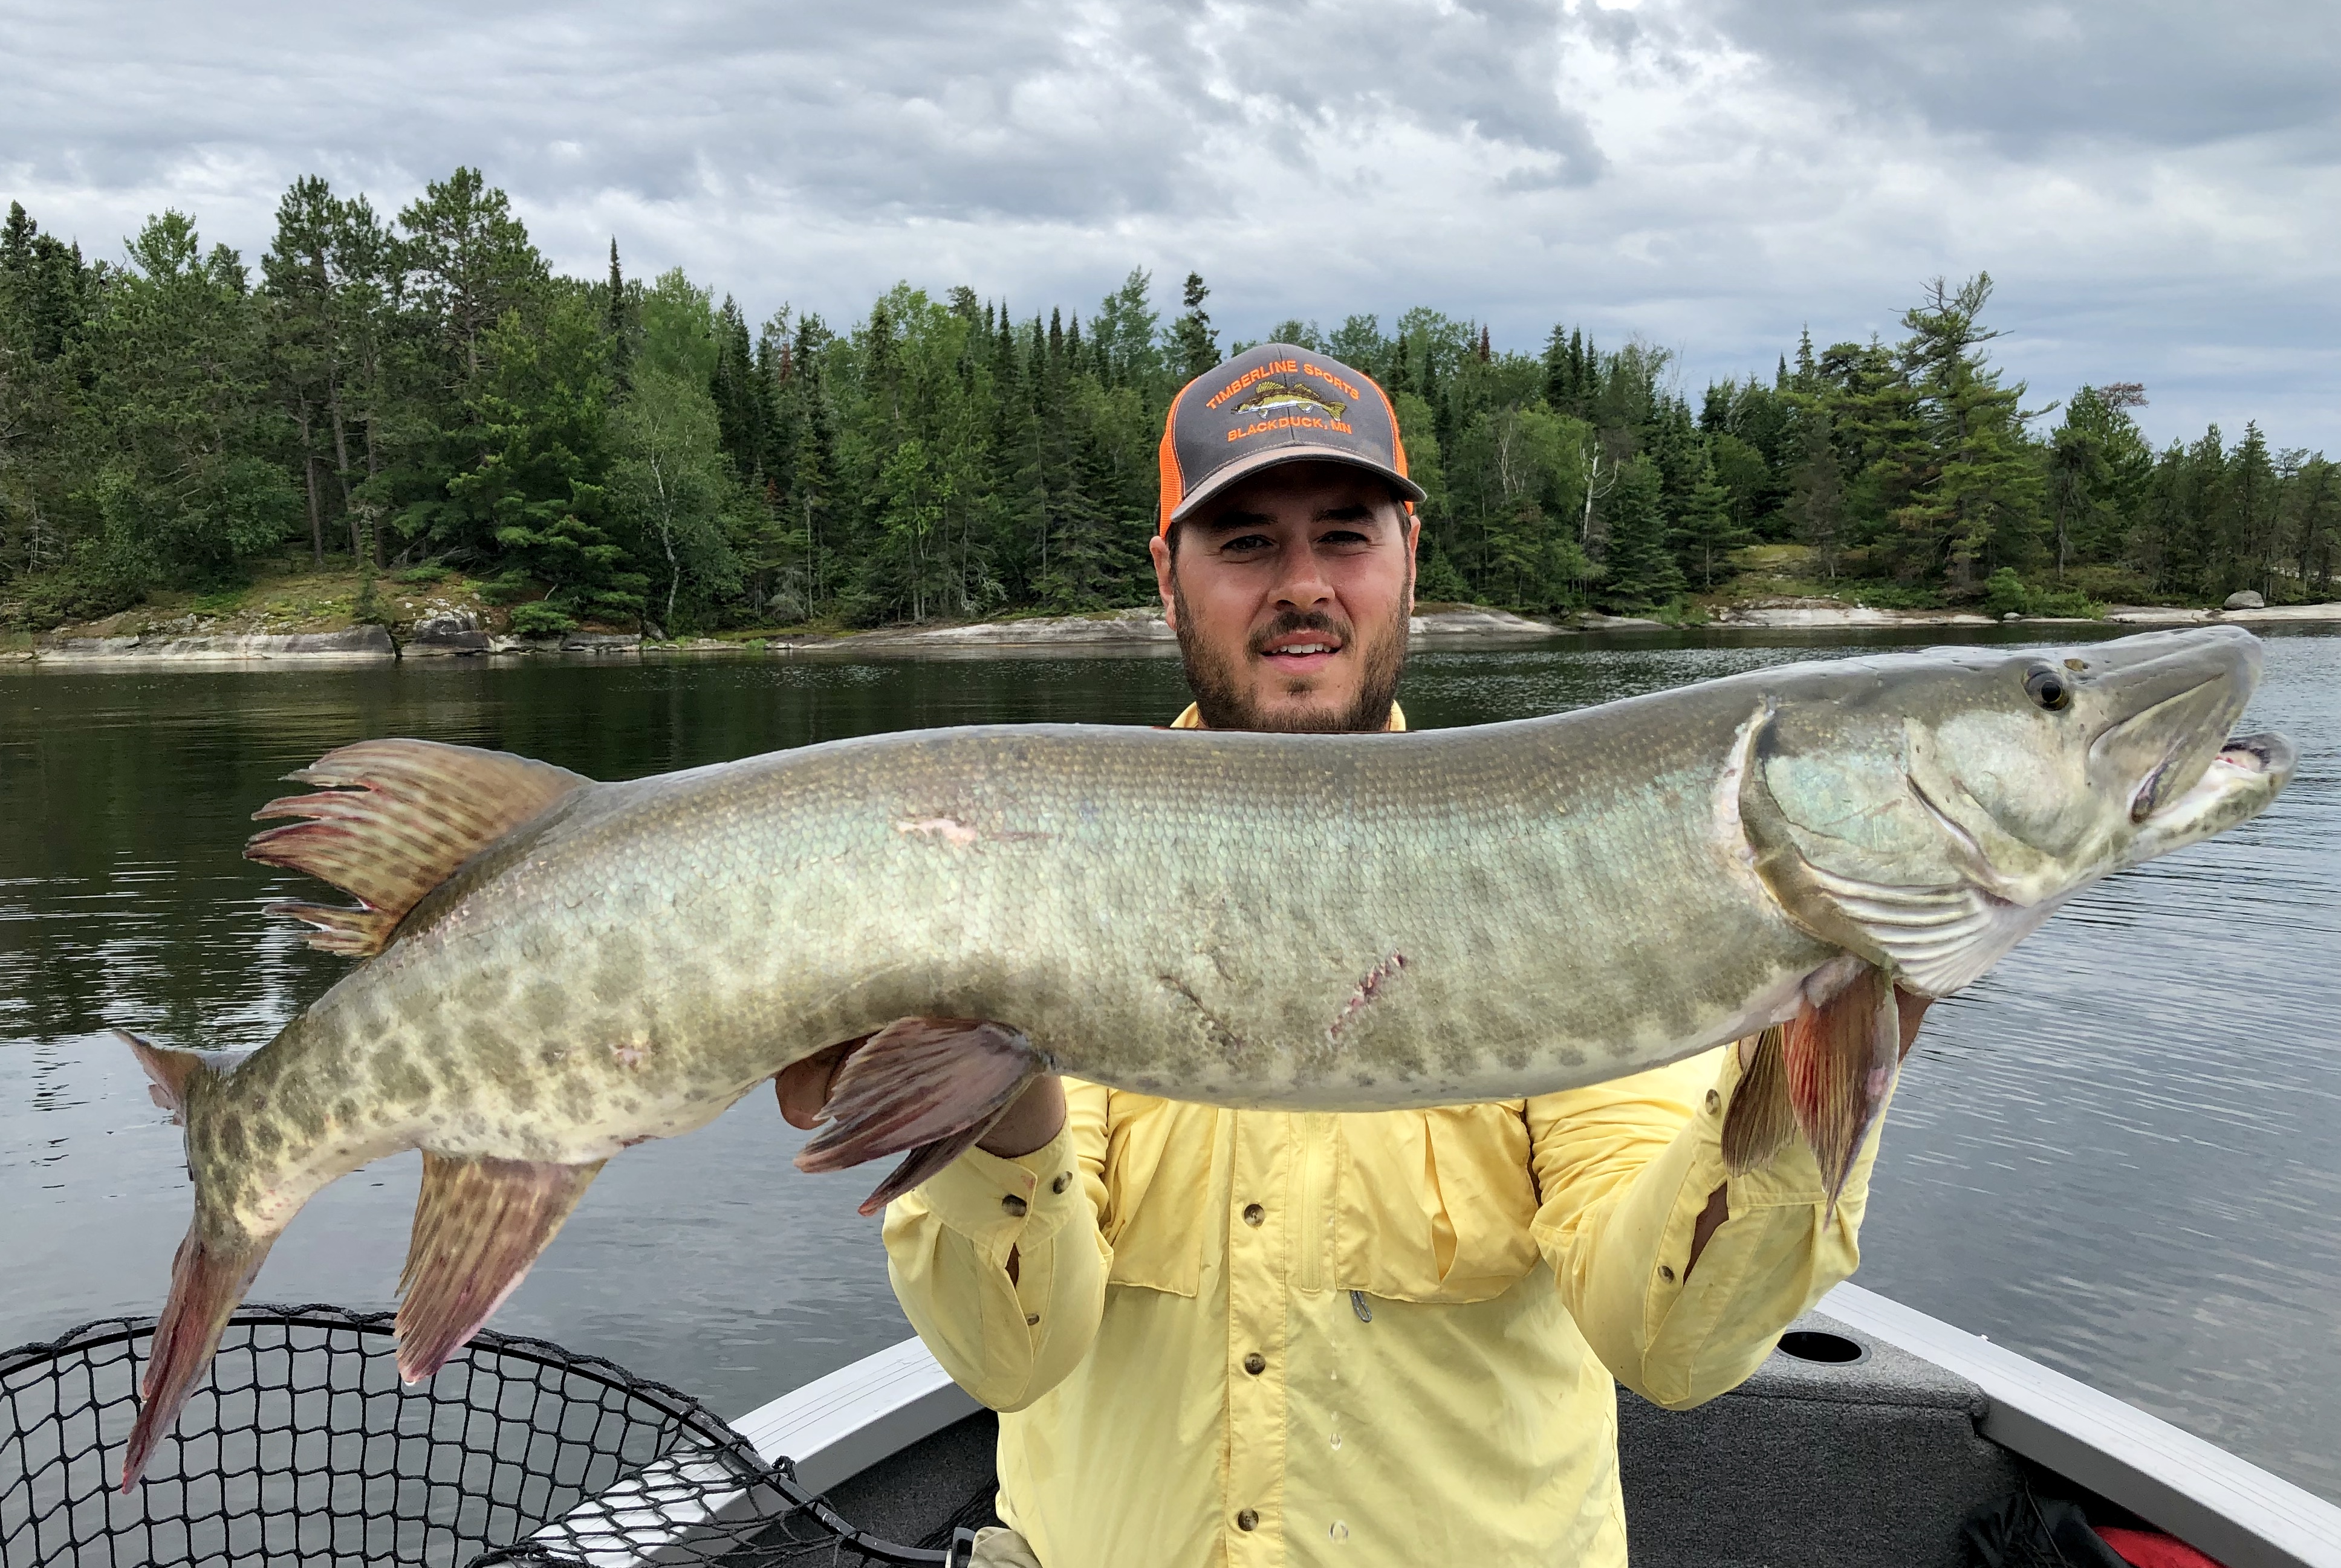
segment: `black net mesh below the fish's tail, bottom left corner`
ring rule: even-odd
[[[246,1306],[129,1495],[152,1318],[0,1355],[0,1568],[948,1563],[876,1540],[695,1399],[595,1355],[478,1334],[398,1381],[391,1313]]]

